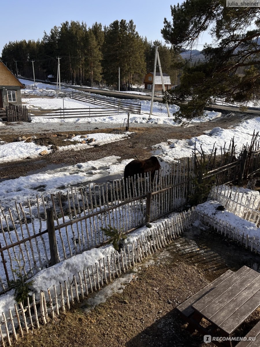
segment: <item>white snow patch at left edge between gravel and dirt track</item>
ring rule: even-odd
[[[0,146],[0,163],[22,160],[25,158],[37,158],[39,153],[48,150],[46,146],[39,146],[33,142],[26,143],[21,142],[11,142],[2,144]]]

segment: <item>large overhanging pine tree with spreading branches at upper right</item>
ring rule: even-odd
[[[171,13],[172,23],[165,18],[161,32],[175,51],[192,49],[209,26],[215,42],[204,46],[203,64],[185,67],[181,87],[166,99],[181,102],[182,115],[189,119],[203,116],[206,104],[216,98],[241,106],[248,101],[257,103],[260,100],[260,8],[226,7],[224,0],[187,0],[171,6]],[[248,30],[250,26],[254,29]],[[239,68],[243,68],[243,75]]]

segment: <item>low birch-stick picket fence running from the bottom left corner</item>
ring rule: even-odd
[[[172,240],[183,234],[196,215],[194,209],[177,213],[173,217],[151,228],[136,238],[131,244],[124,245],[120,252],[115,252],[99,259],[95,264],[77,271],[77,276],[63,279],[57,287],[33,293],[32,303],[29,297],[24,302],[15,304],[8,312],[2,313],[0,321],[0,340],[2,346],[11,346],[18,340],[39,328],[40,325],[51,322],[60,312],[70,310],[93,291],[97,291],[142,262],[147,256],[165,247]],[[81,268],[82,269],[82,268]]]

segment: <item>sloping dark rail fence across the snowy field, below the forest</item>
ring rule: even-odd
[[[95,105],[102,105],[102,106],[109,106],[116,109],[124,110],[125,112],[130,113],[137,113],[140,115],[141,113],[141,103],[131,103],[124,100],[110,100],[108,98],[105,98],[104,96],[98,96],[98,95],[90,95],[90,93],[76,93],[71,92],[71,98],[79,101],[84,101],[88,103],[92,103]]]

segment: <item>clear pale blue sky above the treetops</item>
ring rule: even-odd
[[[139,35],[152,41],[163,40],[163,20],[171,19],[170,6],[175,4],[177,1],[169,0],[2,1],[1,13],[7,15],[1,16],[0,54],[9,41],[42,39],[44,30],[48,34],[54,25],[66,20],[79,20],[92,26],[95,22],[109,25],[116,19],[133,19]],[[210,36],[204,34],[198,49],[210,41]]]

